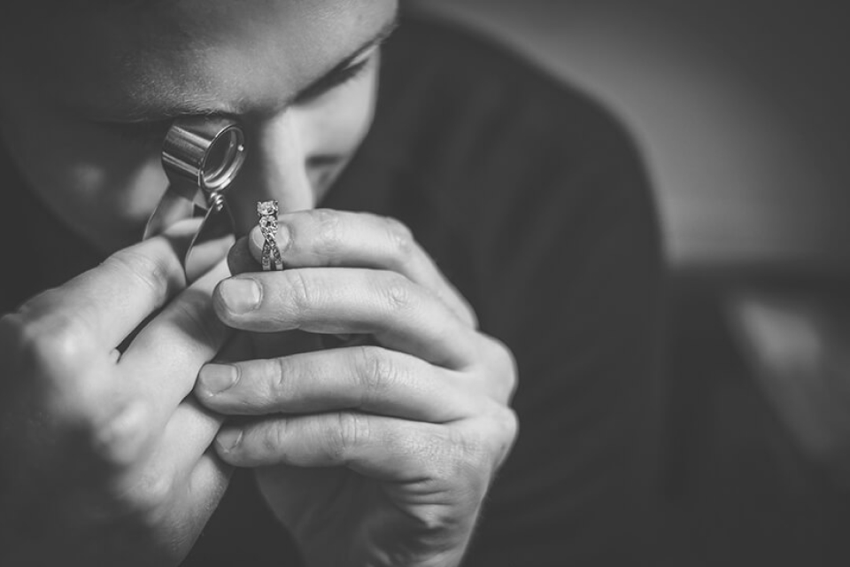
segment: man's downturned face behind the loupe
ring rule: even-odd
[[[228,193],[237,231],[258,200],[313,206],[366,136],[376,48],[398,11],[396,0],[103,4],[21,34],[26,56],[0,68],[0,128],[27,182],[105,252],[140,237],[181,116],[223,114],[245,132]]]

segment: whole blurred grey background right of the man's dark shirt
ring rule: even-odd
[[[429,0],[645,152],[670,266],[671,564],[850,564],[841,3]]]

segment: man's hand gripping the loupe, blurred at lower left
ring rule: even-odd
[[[187,398],[227,330],[172,241],[115,253],[0,320],[0,564],[175,565],[228,482]]]

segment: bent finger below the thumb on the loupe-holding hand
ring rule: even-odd
[[[213,359],[228,336],[211,300],[214,286],[226,276],[222,261],[154,317],[119,361],[128,388],[154,408],[158,416],[154,423],[165,425],[191,392],[197,371]]]

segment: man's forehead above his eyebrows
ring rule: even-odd
[[[139,2],[43,27],[21,71],[43,96],[97,118],[275,112],[397,9],[396,0]]]

